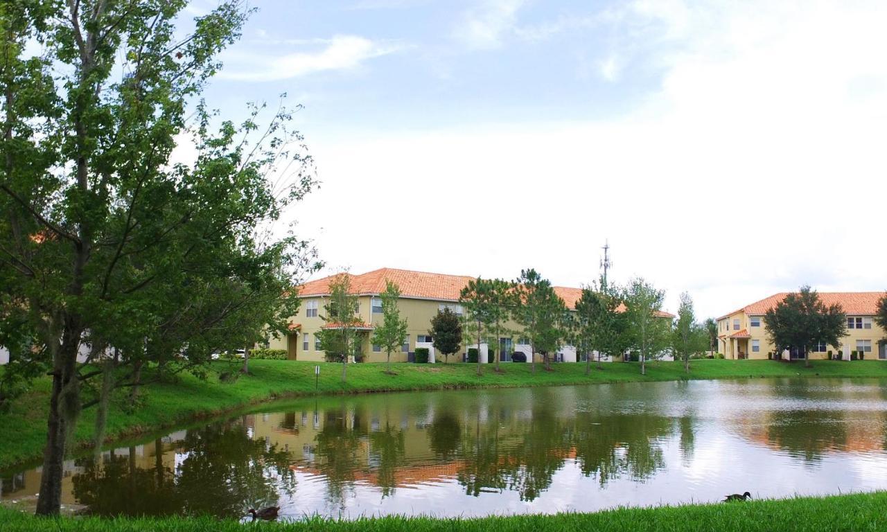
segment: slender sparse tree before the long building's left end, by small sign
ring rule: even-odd
[[[357,295],[351,290],[351,275],[345,271],[330,280],[329,301],[324,305],[324,315],[320,316],[325,325],[318,333],[320,348],[328,362],[341,363],[341,381],[345,382],[348,357],[355,355],[360,343],[357,339],[357,326],[361,319],[357,316]]]

